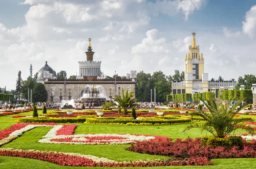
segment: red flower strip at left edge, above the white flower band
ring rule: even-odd
[[[9,127],[8,129],[1,130],[0,131],[0,140],[3,138],[8,137],[12,132],[22,129],[23,127],[26,127],[29,124],[36,124],[36,125],[58,125],[57,123],[17,123],[12,125],[12,127]]]

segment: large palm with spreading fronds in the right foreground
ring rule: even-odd
[[[232,108],[230,108],[229,103],[226,105],[216,103],[214,98],[212,100],[207,100],[204,104],[209,109],[209,112],[204,112],[202,109],[198,109],[196,112],[189,112],[190,115],[203,117],[204,122],[190,124],[183,132],[187,132],[193,128],[199,128],[201,129],[201,133],[206,130],[219,138],[224,138],[236,129],[243,129],[249,134],[255,133],[253,126],[243,123],[245,121],[254,121],[253,119],[248,119],[248,117],[235,117],[237,114],[236,107],[240,102]]]

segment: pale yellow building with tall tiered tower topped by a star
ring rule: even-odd
[[[233,81],[208,80],[208,73],[204,73],[204,55],[199,53],[199,45],[195,46],[195,34],[192,33],[192,45],[184,60],[185,80],[172,82],[172,94],[215,92],[215,97],[218,97],[219,90],[235,89],[237,83]]]

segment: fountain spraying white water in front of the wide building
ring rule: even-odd
[[[75,103],[94,103],[95,107],[102,106],[102,103],[109,100],[106,96],[105,90],[101,85],[86,85],[81,92],[80,100],[76,100]]]

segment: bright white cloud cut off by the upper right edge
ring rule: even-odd
[[[256,5],[246,12],[243,23],[243,33],[253,38],[256,34]]]

